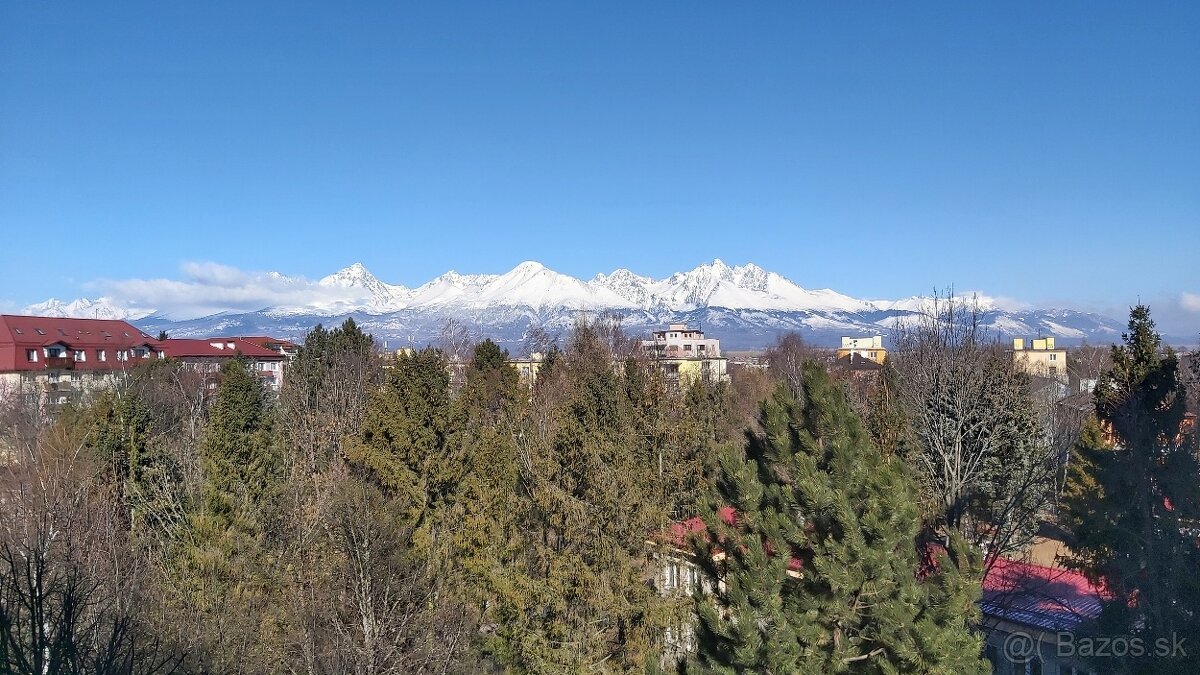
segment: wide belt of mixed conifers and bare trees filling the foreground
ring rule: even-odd
[[[794,335],[707,382],[613,317],[536,333],[533,382],[347,321],[278,394],[164,359],[8,402],[0,671],[989,673],[980,580],[1048,527],[1110,591],[1096,631],[1200,640],[1200,371],[1145,307],[1080,352],[1080,414],[953,297],[870,377]]]

